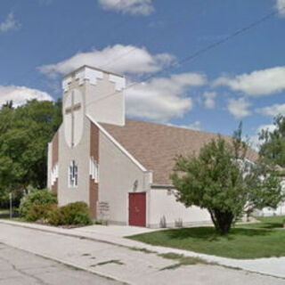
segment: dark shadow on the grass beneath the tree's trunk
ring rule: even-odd
[[[271,231],[263,229],[246,229],[246,228],[235,228],[227,235],[221,236],[216,233],[214,227],[196,227],[196,228],[183,228],[168,230],[165,232],[170,239],[175,240],[186,240],[186,239],[196,239],[196,240],[234,240],[235,236],[265,236],[271,233]]]

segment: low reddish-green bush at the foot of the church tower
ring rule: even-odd
[[[53,225],[92,224],[89,208],[85,202],[70,203],[61,208],[56,208],[48,213],[47,221]]]

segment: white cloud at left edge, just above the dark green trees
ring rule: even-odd
[[[0,85],[0,106],[5,102],[12,101],[13,106],[18,107],[32,99],[37,99],[38,101],[53,101],[52,96],[37,89],[31,89],[25,86]]]

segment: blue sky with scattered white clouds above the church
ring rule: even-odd
[[[0,102],[56,99],[61,76],[88,63],[138,83],[126,90],[129,118],[221,134],[242,120],[255,139],[285,114],[285,0],[2,0],[0,7]]]

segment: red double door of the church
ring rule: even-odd
[[[128,224],[146,226],[146,193],[129,193]]]

